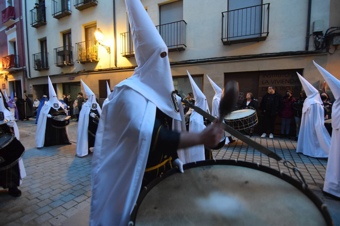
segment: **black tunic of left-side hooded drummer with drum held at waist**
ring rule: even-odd
[[[64,110],[62,107],[58,109],[58,111]],[[51,107],[48,114],[52,116],[57,115],[66,115],[65,112],[58,112],[57,114],[53,114],[53,112],[57,112],[54,108]],[[52,125],[52,118],[47,118],[46,120],[46,129],[45,129],[45,143],[44,146],[52,146],[52,145],[61,145],[68,144],[69,140],[66,135],[66,127],[64,128],[56,128]]]

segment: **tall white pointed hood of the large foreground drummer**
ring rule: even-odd
[[[181,121],[175,110],[171,92],[174,90],[168,56],[168,47],[160,37],[155,25],[140,0],[125,0],[135,46],[135,58],[138,67],[134,74],[116,87],[129,86],[143,97],[154,103],[166,115]]]

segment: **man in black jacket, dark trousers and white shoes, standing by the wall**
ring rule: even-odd
[[[269,138],[274,138],[274,127],[275,127],[275,119],[277,114],[283,108],[283,97],[276,92],[275,86],[268,87],[268,94],[265,94],[262,97],[260,107],[262,109],[264,117],[264,131],[261,135],[261,138],[265,138],[267,136],[266,132],[269,129]]]

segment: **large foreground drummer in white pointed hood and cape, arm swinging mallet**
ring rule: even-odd
[[[90,225],[128,224],[146,169],[156,110],[173,119],[175,131],[185,128],[180,97],[172,94],[168,48],[140,0],[125,3],[138,67],[132,77],[115,86],[99,121],[92,158]],[[217,124],[199,134],[185,131],[177,148],[215,146],[220,131]],[[182,164],[179,159],[172,161],[172,166],[182,168]]]

